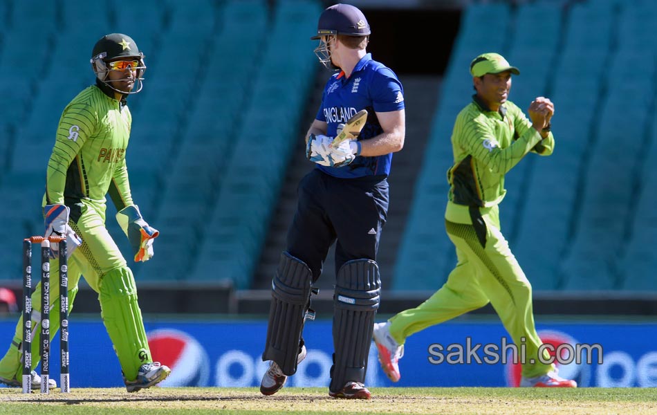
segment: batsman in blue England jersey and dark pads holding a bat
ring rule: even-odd
[[[376,264],[388,210],[392,154],[402,149],[405,110],[402,85],[393,71],[365,48],[370,29],[358,8],[336,4],[322,12],[315,49],[336,73],[306,134],[306,156],[317,168],[299,183],[297,212],[287,249],[272,280],[272,302],[263,360],[271,360],[260,391],[275,394],[306,357],[302,330],[311,284],[335,242],[333,367],[329,395],[369,399],[364,385],[374,317],[380,301]],[[368,118],[360,135],[331,145],[358,111]]]

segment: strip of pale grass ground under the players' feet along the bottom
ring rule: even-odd
[[[326,388],[59,389],[45,396],[0,389],[0,414],[657,414],[657,391],[639,389],[372,388],[371,400]]]

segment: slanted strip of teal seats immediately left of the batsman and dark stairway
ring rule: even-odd
[[[298,39],[313,33],[319,13],[317,3],[300,1],[281,2],[274,10],[273,26],[256,55],[267,65],[253,73],[253,90],[232,137],[232,153],[212,213],[210,228],[216,232],[205,237],[196,278],[219,275],[237,288],[250,286],[284,175],[286,158],[281,155],[299,139],[297,123],[313,80],[313,57],[307,53],[311,45]],[[285,49],[276,46],[281,42]],[[295,94],[288,93],[290,84],[297,85]]]

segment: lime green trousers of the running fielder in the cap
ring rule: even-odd
[[[483,211],[482,217],[486,225],[485,246],[477,238],[472,221],[445,221],[447,235],[456,247],[456,267],[432,297],[392,317],[390,333],[403,344],[413,333],[490,302],[513,342],[526,345],[522,376],[541,376],[552,370],[553,365],[537,359],[542,342],[534,324],[531,284],[500,232],[497,206]],[[548,357],[544,351],[544,361]]]

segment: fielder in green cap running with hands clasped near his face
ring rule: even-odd
[[[423,304],[375,324],[381,366],[391,380],[398,381],[406,338],[490,302],[515,344],[526,346],[521,386],[577,387],[575,381],[557,376],[547,351],[538,358],[542,342],[534,325],[532,287],[499,223],[498,205],[506,194],[504,175],[529,152],[552,154],[554,104],[536,98],[528,120],[507,100],[511,74],[520,72],[497,53],[474,58],[470,73],[476,94],[456,117],[454,165],[447,172],[445,228],[458,262],[445,285]]]

